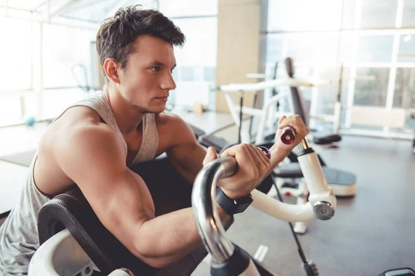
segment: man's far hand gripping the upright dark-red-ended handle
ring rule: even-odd
[[[291,145],[286,145],[281,141],[282,130],[287,126],[291,126],[291,128],[294,128],[295,130],[295,141]],[[297,146],[307,135],[308,128],[299,115],[283,116],[278,121],[278,130],[277,133],[275,133],[274,147],[288,155],[288,153],[290,153],[291,150],[293,150],[293,148],[295,148],[295,146]]]

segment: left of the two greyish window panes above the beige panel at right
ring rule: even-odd
[[[359,79],[365,77],[365,79]],[[374,77],[374,80],[367,80]],[[356,106],[386,106],[389,68],[358,68],[353,104]]]

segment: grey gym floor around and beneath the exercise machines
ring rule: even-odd
[[[229,115],[180,115],[205,131],[232,122]],[[0,148],[0,156],[36,148],[45,129],[44,124],[1,129],[0,144],[10,146]],[[235,141],[236,133],[232,127],[218,136]],[[373,276],[391,268],[415,268],[415,155],[411,143],[344,136],[340,148],[315,148],[328,166],[353,172],[358,178],[356,196],[338,199],[333,219],[309,222],[308,232],[299,237],[306,257],[317,264],[320,275]],[[15,175],[10,174],[10,164],[0,161],[0,172],[3,201],[8,185],[19,185],[12,181]],[[2,222],[0,219],[0,225]],[[251,255],[261,244],[268,246],[264,266],[279,275],[305,275],[288,224],[283,221],[248,208],[235,217],[228,237]],[[208,275],[208,271],[208,262],[203,262],[193,275]]]

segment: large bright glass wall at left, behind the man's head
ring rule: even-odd
[[[184,32],[185,46],[175,49],[174,78],[208,82],[214,108],[216,0],[0,0],[0,59],[5,64],[0,68],[0,126],[28,116],[54,117],[85,97],[84,88],[97,88],[93,43],[100,23],[118,8],[137,4],[160,10]],[[169,101],[174,102],[174,94]]]

